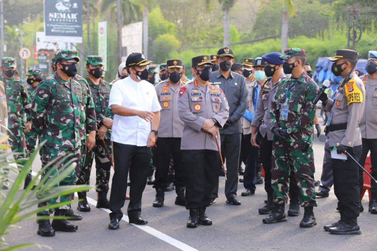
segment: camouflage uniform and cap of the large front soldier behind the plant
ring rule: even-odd
[[[74,50],[61,50],[55,55],[59,59],[79,59]],[[31,117],[35,129],[40,136],[41,142],[46,141],[43,146],[42,166],[49,163],[56,163],[63,157],[67,157],[56,170],[51,173],[50,178],[58,175],[58,170],[72,158],[80,160],[80,117],[82,116],[82,105],[87,102],[83,96],[81,85],[73,78],[65,81],[58,73],[42,81],[36,90],[32,105]],[[90,110],[90,109],[88,109]],[[94,124],[89,123],[88,127],[95,130]],[[80,166],[80,161],[74,161]],[[53,164],[45,173],[48,173]],[[77,181],[75,171],[67,175],[57,186],[72,185]],[[60,196],[59,202],[70,201],[71,195]],[[57,198],[46,201],[48,204],[57,202]],[[44,203],[43,203],[44,204]],[[38,205],[38,207],[43,206]],[[62,205],[59,209],[69,209],[69,205]],[[44,211],[43,214],[47,214]]]

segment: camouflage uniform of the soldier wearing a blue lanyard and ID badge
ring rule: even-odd
[[[271,186],[275,204],[287,203],[291,171],[289,166],[293,166],[294,177],[300,189],[300,204],[317,206],[312,149],[313,119],[316,114],[316,106],[312,101],[317,90],[317,84],[303,72],[297,79],[283,79],[272,100],[271,128],[291,129],[290,137],[284,140],[273,136]],[[282,120],[279,117],[285,103],[288,106],[288,117]],[[307,144],[307,151],[303,151]]]

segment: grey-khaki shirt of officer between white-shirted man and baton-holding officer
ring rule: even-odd
[[[158,126],[159,138],[182,137],[184,123],[178,117],[177,98],[179,89],[183,84],[180,81],[178,85],[172,85],[167,79],[155,86],[157,98],[161,105],[160,125]]]

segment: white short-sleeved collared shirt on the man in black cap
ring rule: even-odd
[[[116,81],[110,92],[109,108],[120,105],[129,109],[157,112],[161,106],[155,88],[149,82],[128,77]],[[138,116],[114,115],[111,140],[125,145],[146,146],[151,123]]]

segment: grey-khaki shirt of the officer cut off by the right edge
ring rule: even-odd
[[[361,79],[365,86],[365,106],[359,122],[361,137],[377,138],[377,79],[369,78],[368,74]]]

